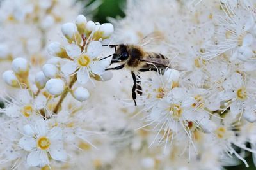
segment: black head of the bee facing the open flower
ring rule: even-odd
[[[111,48],[115,47],[115,53],[113,54],[113,58],[111,60],[111,64],[115,62],[122,62],[127,60],[129,57],[129,53],[127,51],[127,45],[120,44],[120,45],[109,45]]]

